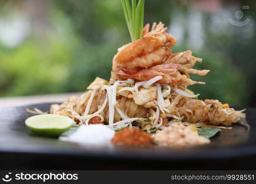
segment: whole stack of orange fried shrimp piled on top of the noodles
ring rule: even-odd
[[[201,58],[192,56],[192,52],[173,54],[169,48],[176,44],[176,38],[166,33],[163,23],[153,23],[149,31],[145,25],[143,37],[118,49],[113,58],[111,81],[116,80],[149,80],[162,76],[160,83],[172,86],[194,85],[188,74],[206,75],[209,71],[192,69]]]

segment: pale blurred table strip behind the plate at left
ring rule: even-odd
[[[28,104],[39,104],[47,102],[64,102],[69,96],[79,95],[81,93],[60,93],[60,94],[44,94],[35,96],[15,96],[8,98],[0,98],[0,107],[13,107]]]

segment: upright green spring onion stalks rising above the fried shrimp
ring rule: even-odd
[[[131,40],[142,37],[145,0],[121,0]],[[136,5],[137,4],[137,5]]]

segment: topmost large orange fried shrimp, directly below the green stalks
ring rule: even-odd
[[[163,63],[169,56],[169,48],[176,44],[176,38],[167,34],[166,29],[161,22],[158,25],[153,23],[149,32],[149,25],[146,25],[141,39],[119,48],[112,61],[111,78],[118,79],[122,73],[134,74]]]

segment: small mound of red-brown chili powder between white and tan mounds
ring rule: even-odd
[[[153,138],[137,128],[125,128],[115,133],[112,143],[117,145],[147,146],[153,144]]]

